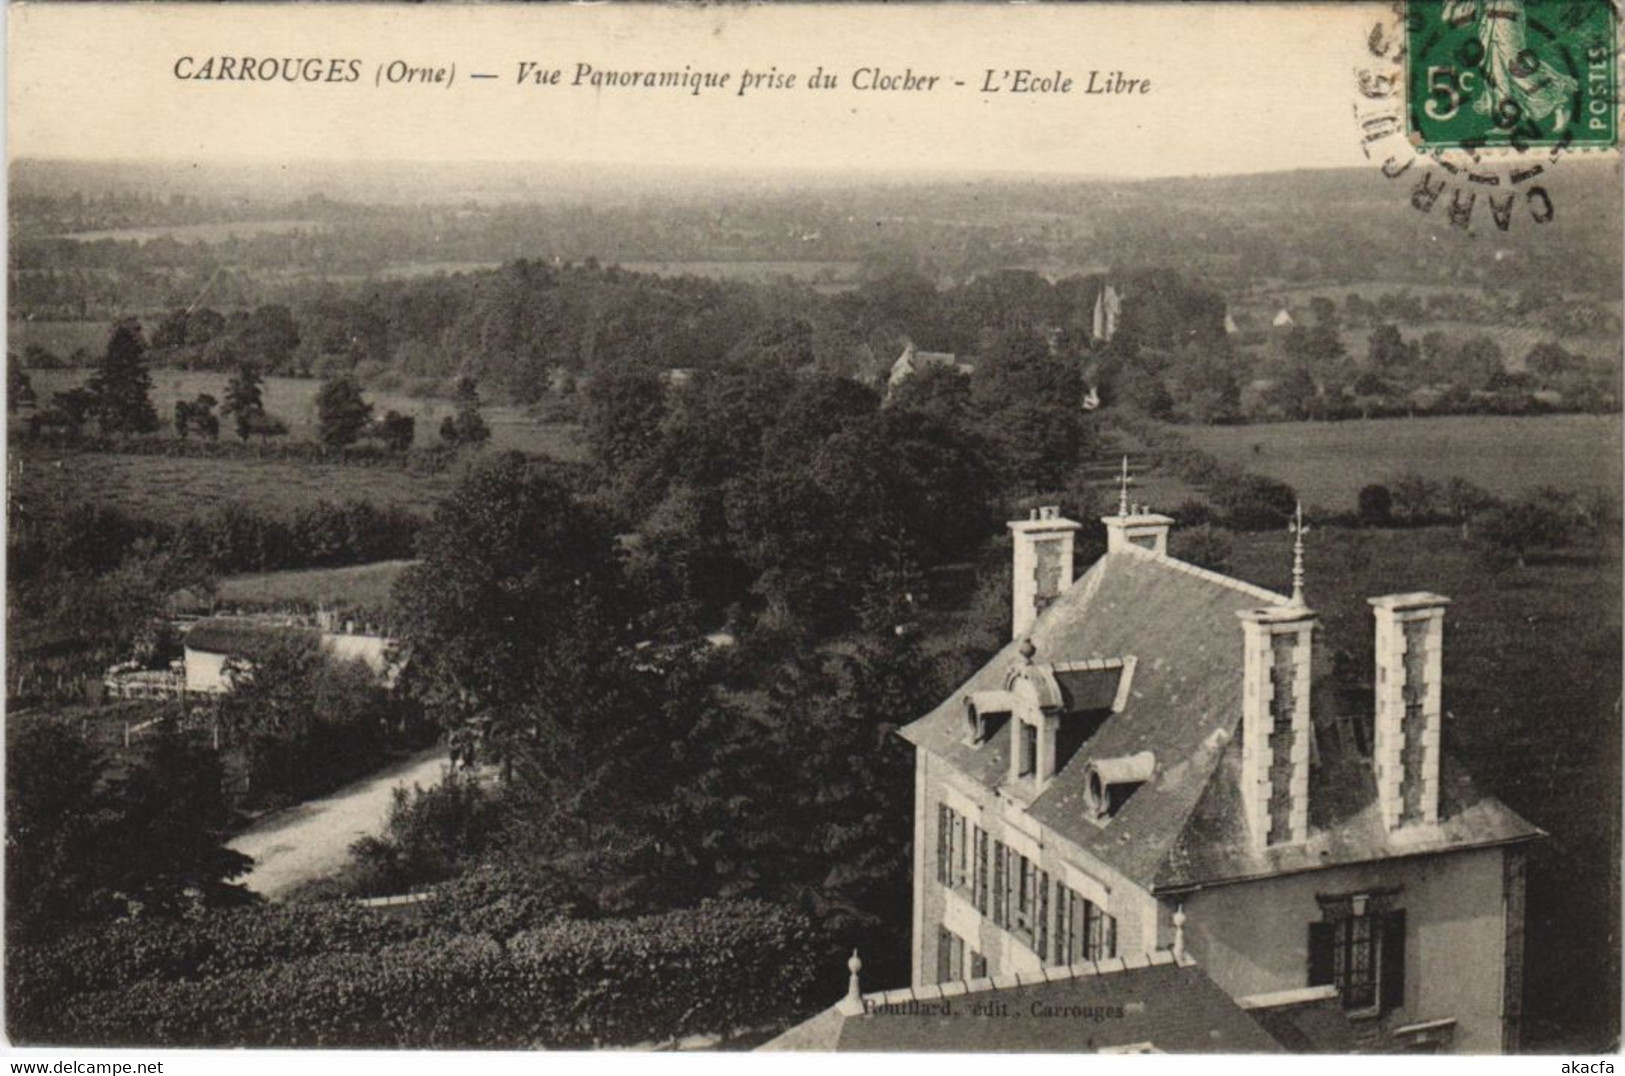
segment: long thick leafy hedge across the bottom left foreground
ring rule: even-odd
[[[206,928],[198,946],[182,941],[185,923],[128,925],[112,967],[94,965],[93,939],[13,952],[29,969],[88,957],[93,970],[58,977],[65,993],[49,1004],[13,1008],[8,1030],[75,1045],[634,1045],[780,1021],[804,1006],[824,951],[804,915],[754,900],[559,922],[507,946],[351,915],[252,912],[240,943]],[[219,918],[229,933],[237,917]],[[15,988],[42,985],[26,975]]]

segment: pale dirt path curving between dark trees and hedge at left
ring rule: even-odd
[[[294,886],[335,873],[349,858],[356,837],[384,829],[395,788],[437,785],[445,769],[445,748],[431,748],[330,796],[260,819],[228,844],[254,857],[254,870],[242,881],[275,900]]]

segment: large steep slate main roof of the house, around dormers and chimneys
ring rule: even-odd
[[[1129,546],[1108,553],[1034,624],[1034,662],[1134,658],[1128,699],[1025,808],[1045,827],[1149,891],[1315,870],[1540,835],[1443,764],[1436,826],[1389,835],[1363,757],[1324,754],[1311,767],[1310,840],[1254,853],[1240,808],[1242,627],[1237,613],[1284,595]],[[964,696],[1004,686],[1024,658],[1012,640],[934,710],[902,730],[986,788],[1008,788],[1011,728],[967,741]],[[1066,718],[1063,718],[1064,722]],[[1107,821],[1089,809],[1090,761],[1139,751],[1155,770]]]

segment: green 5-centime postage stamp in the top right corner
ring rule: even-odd
[[[1410,0],[1406,39],[1419,148],[1617,145],[1609,0]]]

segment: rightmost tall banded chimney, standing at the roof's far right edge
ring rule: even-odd
[[[1436,593],[1370,598],[1376,614],[1372,766],[1383,827],[1438,821],[1445,606]]]

